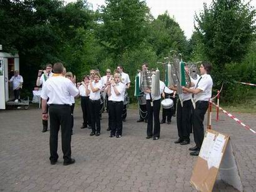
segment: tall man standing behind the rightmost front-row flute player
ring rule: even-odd
[[[129,89],[130,86],[131,86],[131,81],[130,81],[130,78],[129,78],[129,75],[127,73],[124,72],[124,69],[123,69],[123,66],[119,65],[117,66],[116,68],[120,75],[121,75],[121,82],[125,83],[126,85],[126,89]],[[123,121],[126,121],[126,116],[127,116],[127,101],[129,99],[129,96],[128,96],[128,93],[127,93],[127,90],[125,91],[125,101],[124,101],[124,104],[123,104],[123,114],[122,114],[122,119]]]

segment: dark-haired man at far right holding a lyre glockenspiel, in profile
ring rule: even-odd
[[[212,66],[210,63],[202,63],[200,66],[200,78],[195,85],[195,89],[183,88],[184,91],[193,94],[195,101],[195,111],[193,113],[193,134],[196,146],[189,148],[192,156],[198,156],[200,148],[203,143],[203,119],[205,113],[208,109],[208,101],[212,96],[212,77],[210,76],[210,71]]]

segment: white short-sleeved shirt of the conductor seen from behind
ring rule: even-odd
[[[53,76],[44,83],[41,98],[49,98],[48,104],[72,105],[71,96],[76,96],[78,93],[78,89],[70,79]]]

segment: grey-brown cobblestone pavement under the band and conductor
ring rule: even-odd
[[[176,119],[161,125],[157,141],[145,139],[146,123],[136,123],[138,112],[128,110],[123,136],[109,138],[107,113],[101,135],[80,129],[81,109],[74,112],[72,156],[76,163],[63,166],[59,135],[59,160],[49,162],[49,131],[41,133],[41,110],[0,111],[0,191],[195,191],[190,185],[193,165],[186,146],[174,144]],[[235,114],[256,129],[256,114]],[[214,117],[213,117],[214,118]],[[230,134],[245,191],[256,191],[256,134],[221,114],[213,129]],[[217,180],[213,191],[235,191]]]

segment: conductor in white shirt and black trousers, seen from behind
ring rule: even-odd
[[[76,96],[79,91],[74,83],[64,78],[63,64],[55,63],[53,66],[54,76],[44,83],[42,98],[42,119],[48,120],[46,111],[49,105],[50,117],[50,161],[56,164],[58,156],[58,133],[61,126],[61,146],[63,151],[63,165],[74,163],[71,158],[71,96]]]

